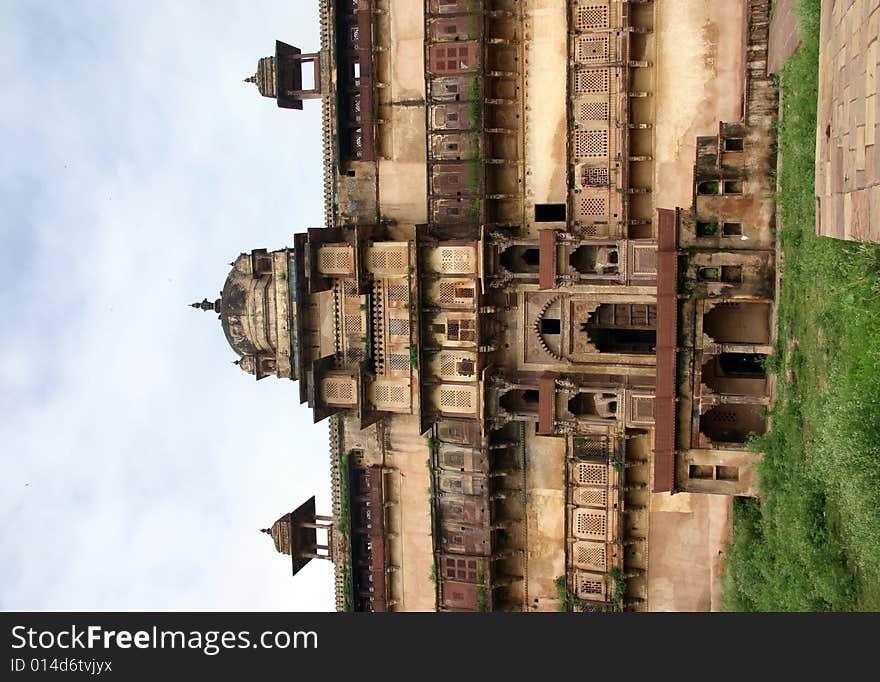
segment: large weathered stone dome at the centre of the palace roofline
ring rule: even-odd
[[[274,293],[272,278],[254,277],[251,256],[241,254],[223,285],[219,312],[226,340],[243,358],[275,355],[274,334],[268,319],[274,309]]]

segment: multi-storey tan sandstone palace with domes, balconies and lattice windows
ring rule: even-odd
[[[773,390],[777,94],[768,0],[706,5],[736,68],[699,126],[681,3],[320,0],[247,79],[322,108],[325,224],[193,305],[329,426],[332,509],[265,530],[339,610],[713,603]]]

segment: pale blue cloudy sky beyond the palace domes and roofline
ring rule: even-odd
[[[312,0],[0,0],[0,609],[333,608],[259,529],[327,422],[231,364],[229,263],[323,224],[320,104],[243,83]]]

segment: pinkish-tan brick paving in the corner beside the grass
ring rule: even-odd
[[[880,0],[823,0],[816,233],[880,243]]]

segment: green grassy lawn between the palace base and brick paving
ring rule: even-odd
[[[729,610],[880,610],[880,247],[814,234],[819,0],[781,81],[784,253],[760,500],[736,500]]]

